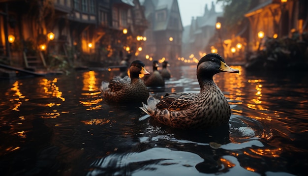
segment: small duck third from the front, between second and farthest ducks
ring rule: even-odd
[[[144,77],[144,84],[148,88],[158,88],[158,87],[165,87],[165,80],[162,78],[158,71],[158,61],[153,61],[153,72],[150,75]]]

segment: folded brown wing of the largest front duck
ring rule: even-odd
[[[167,93],[164,98],[156,104],[160,110],[168,109],[169,111],[180,111],[191,105],[191,100],[195,93]]]

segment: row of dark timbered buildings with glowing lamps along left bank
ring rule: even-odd
[[[0,0],[0,62],[115,64],[139,54],[147,26],[139,0]]]

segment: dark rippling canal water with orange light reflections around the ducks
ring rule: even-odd
[[[235,67],[240,74],[214,77],[232,109],[229,125],[203,131],[107,105],[99,87],[117,72],[2,80],[0,175],[306,175],[308,73]],[[195,66],[172,69],[166,92],[199,91]]]

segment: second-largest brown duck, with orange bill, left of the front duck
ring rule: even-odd
[[[134,60],[129,67],[129,76],[115,76],[110,82],[102,81],[100,90],[105,101],[110,103],[142,103],[150,96],[148,88],[140,79],[139,74],[150,74],[145,64]]]

